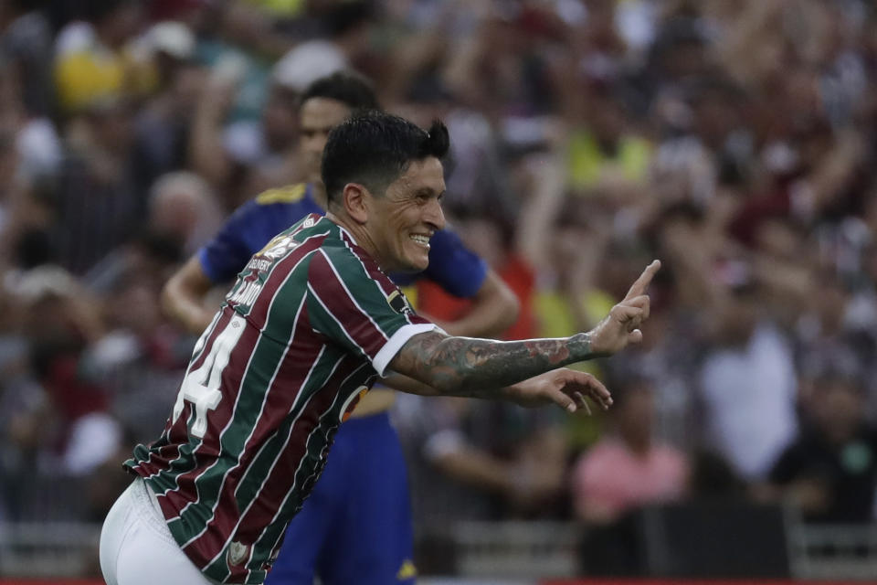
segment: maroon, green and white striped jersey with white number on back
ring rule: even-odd
[[[124,464],[207,577],[261,583],[338,425],[433,328],[348,232],[308,216],[240,272],[162,436]]]

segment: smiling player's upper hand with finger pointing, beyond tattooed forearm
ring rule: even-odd
[[[642,341],[639,325],[649,318],[650,300],[646,291],[651,279],[660,270],[660,261],[652,261],[630,286],[627,296],[590,331],[591,350],[611,356],[629,344]]]

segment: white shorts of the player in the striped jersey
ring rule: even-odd
[[[100,570],[107,585],[212,585],[185,556],[158,501],[136,478],[112,505],[100,531]]]

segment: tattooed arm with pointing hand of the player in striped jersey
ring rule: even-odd
[[[649,317],[646,290],[660,262],[653,261],[594,329],[571,337],[491,341],[433,331],[411,337],[390,362],[393,371],[440,394],[502,398],[503,388],[568,364],[611,356],[639,343],[639,324]]]

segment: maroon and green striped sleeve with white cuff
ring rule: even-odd
[[[408,339],[438,328],[415,314],[383,272],[349,250],[314,254],[307,303],[313,329],[367,358],[380,376]]]

